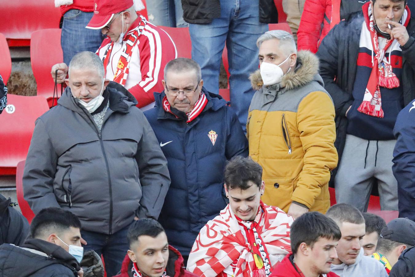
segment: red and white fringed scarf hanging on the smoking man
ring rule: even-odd
[[[381,91],[379,87],[383,88],[397,88],[400,85],[398,77],[393,73],[393,68],[390,63],[392,50],[400,50],[399,43],[397,40],[387,39],[385,47],[383,49],[379,48],[378,41],[378,32],[374,29],[374,16],[372,12],[372,5],[368,2],[363,5],[365,22],[363,22],[360,45],[359,47],[370,47],[369,50],[372,50],[375,54],[373,58],[372,54],[372,71],[369,76],[369,81],[366,86],[366,90],[363,97],[363,102],[360,104],[357,109],[359,112],[366,115],[375,116],[378,118],[383,118],[383,109],[382,109],[382,98]],[[367,14],[366,14],[367,9]],[[407,10],[404,11],[402,16],[402,22],[406,27],[409,20],[406,20],[408,17]],[[408,17],[409,19],[409,17]],[[367,43],[370,41],[371,43]],[[362,45],[364,44],[364,45]],[[385,57],[385,52],[388,48],[391,48],[389,51],[389,61]]]

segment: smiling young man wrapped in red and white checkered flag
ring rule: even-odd
[[[266,277],[291,252],[293,218],[261,201],[262,167],[234,157],[225,167],[229,204],[200,230],[187,268],[202,277]]]

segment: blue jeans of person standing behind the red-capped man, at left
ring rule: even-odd
[[[97,51],[105,35],[101,30],[86,29],[93,12],[68,10],[63,15],[61,47],[63,62],[69,64],[72,57],[81,51]]]

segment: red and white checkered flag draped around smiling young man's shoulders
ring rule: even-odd
[[[263,274],[261,272],[266,275],[265,266],[268,263],[271,272],[291,251],[290,226],[293,218],[262,201],[260,210],[254,222],[247,224],[254,235],[254,239],[249,239],[246,221],[238,220],[228,204],[219,216],[200,230],[189,255],[188,270],[202,277],[252,277]],[[254,257],[257,255],[256,248],[263,257],[262,261],[266,261],[264,270],[259,270],[258,257]]]

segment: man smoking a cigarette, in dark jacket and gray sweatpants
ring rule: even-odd
[[[398,209],[393,126],[415,97],[414,42],[406,0],[373,0],[320,44],[320,75],[336,109],[337,203],[365,211],[377,180],[381,209]]]

